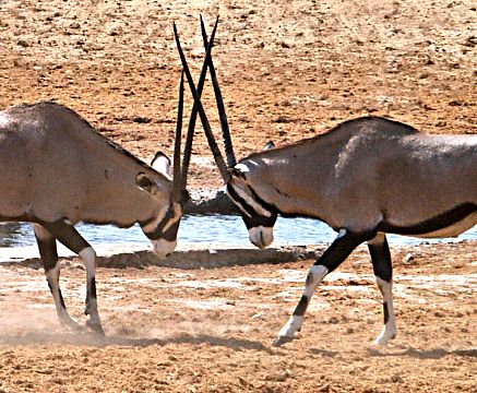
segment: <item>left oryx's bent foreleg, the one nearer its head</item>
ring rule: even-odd
[[[84,313],[90,315],[86,324],[96,333],[104,334],[96,300],[96,252],[71,224],[61,221],[44,224],[44,226],[61,243],[82,258],[86,266],[86,307]]]

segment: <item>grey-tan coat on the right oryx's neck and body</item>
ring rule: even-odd
[[[463,203],[477,205],[477,135],[426,135],[381,118],[347,121],[240,164],[265,202],[335,229],[372,230],[382,221],[413,226]],[[470,216],[457,229],[476,222]]]

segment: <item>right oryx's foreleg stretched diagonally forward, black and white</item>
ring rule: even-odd
[[[356,234],[347,229],[339,231],[337,238],[310,267],[305,283],[303,295],[293,315],[279,331],[278,338],[273,343],[274,346],[281,346],[294,340],[295,333],[301,329],[305,312],[317,287],[321,284],[326,274],[335,270],[356,247],[368,239],[369,234]]]

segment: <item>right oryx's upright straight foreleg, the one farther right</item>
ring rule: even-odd
[[[396,336],[396,317],[393,303],[393,266],[391,263],[391,252],[384,234],[368,241],[371,254],[372,269],[375,281],[383,297],[383,318],[384,325],[374,344],[386,345]]]

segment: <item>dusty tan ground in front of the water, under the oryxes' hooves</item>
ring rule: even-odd
[[[366,248],[329,275],[282,348],[271,343],[312,260],[99,267],[106,338],[60,329],[41,270],[2,267],[0,391],[475,392],[475,250],[393,248],[398,335],[386,348],[371,345],[382,314]],[[63,264],[65,302],[84,323],[84,269]]]

